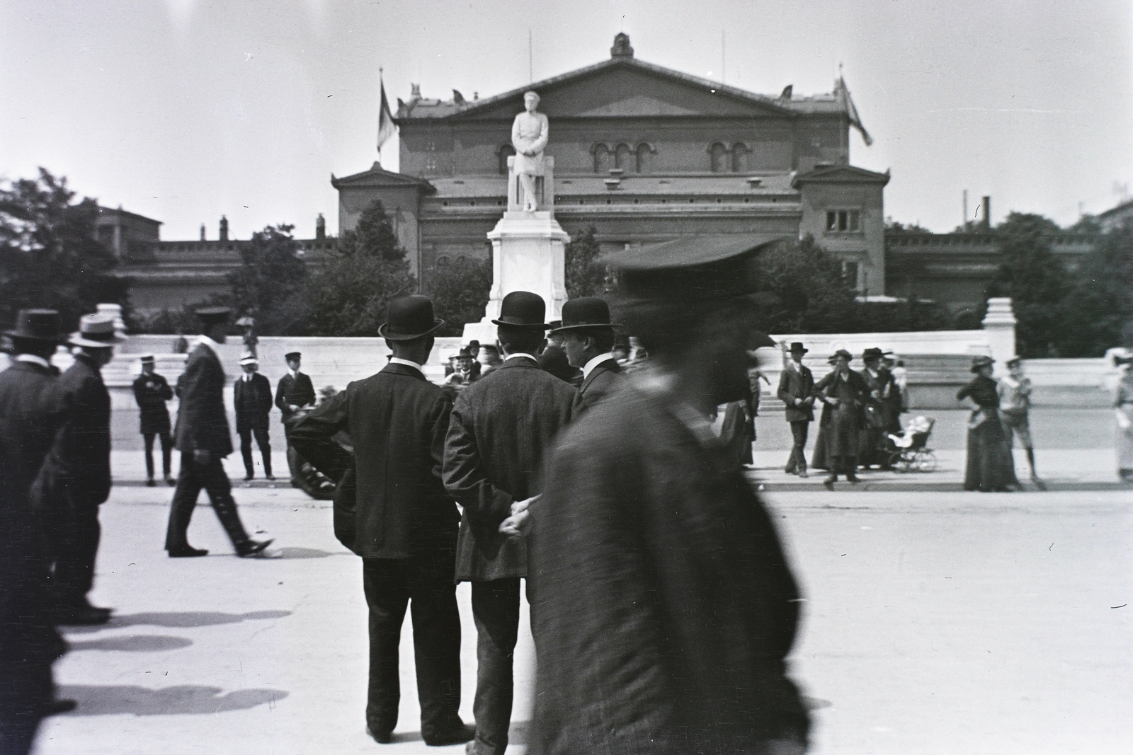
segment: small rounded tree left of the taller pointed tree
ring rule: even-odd
[[[307,268],[293,225],[269,225],[239,246],[240,268],[228,276],[242,314],[256,319],[259,335],[295,335],[303,328]]]

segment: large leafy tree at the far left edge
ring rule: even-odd
[[[67,179],[40,169],[37,179],[0,185],[0,321],[19,309],[58,309],[65,327],[100,302],[130,317],[129,282],[110,274],[113,255],[96,240],[99,205],[75,201]]]

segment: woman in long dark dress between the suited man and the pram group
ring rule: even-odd
[[[861,443],[861,414],[869,398],[869,386],[859,372],[850,369],[853,359],[845,349],[838,349],[827,360],[834,369],[815,384],[812,395],[823,402],[818,421],[818,439],[810,465],[827,470],[823,484],[834,490],[838,474],[847,482],[858,482],[858,454]]]

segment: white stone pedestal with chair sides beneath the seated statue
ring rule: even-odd
[[[465,326],[462,341],[495,343],[503,298],[512,291],[543,297],[547,320],[559,319],[566,300],[565,247],[570,235],[554,213],[554,158],[544,157],[544,174],[536,180],[538,208],[522,211],[522,187],[516,178],[513,157],[508,160],[508,211],[488,232],[492,241],[492,291],[484,319]]]

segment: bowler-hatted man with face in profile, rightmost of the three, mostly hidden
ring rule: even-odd
[[[614,325],[610,304],[598,297],[571,299],[563,304],[562,324],[551,332],[562,338],[566,359],[582,370],[579,393],[587,409],[617,389],[624,379],[614,359]]]

